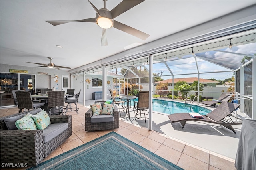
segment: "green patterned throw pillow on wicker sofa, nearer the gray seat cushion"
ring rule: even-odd
[[[48,127],[48,125],[51,124],[50,117],[48,116],[47,112],[42,110],[36,115],[33,115],[32,118],[34,119],[34,122],[36,123],[37,129],[45,129]]]

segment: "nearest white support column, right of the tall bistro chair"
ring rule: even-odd
[[[148,108],[148,112],[149,112],[149,119],[148,119],[148,130],[152,131],[153,130],[153,120],[152,120],[152,113],[153,113],[153,99],[152,99],[152,95],[153,95],[153,57],[152,55],[149,56],[149,108]]]

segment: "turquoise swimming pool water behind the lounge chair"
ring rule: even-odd
[[[108,100],[112,102],[112,100]],[[138,101],[137,99],[130,100],[131,105],[134,105],[134,101]],[[180,103],[175,101],[166,101],[161,99],[153,99],[153,111],[166,113],[166,114],[173,114],[173,113],[182,113],[182,112],[197,112],[200,115],[207,115],[211,112],[210,109],[197,106],[197,105],[191,105],[188,103]]]

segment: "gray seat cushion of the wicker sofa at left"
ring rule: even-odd
[[[62,132],[68,129],[68,123],[52,123],[44,129],[44,143],[49,142]]]

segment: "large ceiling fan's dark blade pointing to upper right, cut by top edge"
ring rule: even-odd
[[[111,15],[112,15],[111,19],[116,18],[120,14],[130,10],[131,8],[133,8],[134,6],[140,4],[143,1],[144,0],[123,0],[122,2],[120,2],[120,4],[118,4],[115,8],[113,8],[110,11]]]

